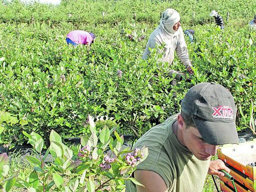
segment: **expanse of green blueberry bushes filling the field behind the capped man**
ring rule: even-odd
[[[183,30],[195,30],[194,43],[186,37],[195,72],[188,76],[190,82],[171,85],[170,68],[159,62],[156,53],[147,61],[141,58],[166,8],[180,13]],[[224,30],[209,16],[212,10],[223,16]],[[12,148],[26,144],[29,136],[24,132],[34,131],[47,149],[50,141],[55,142],[50,137],[52,130],[62,138],[91,134],[89,115],[109,119],[96,122],[96,132],[115,127],[116,134],[138,138],[179,112],[180,99],[200,82],[228,88],[238,108],[237,130],[255,130],[256,32],[248,26],[255,13],[255,2],[249,0],[63,0],[59,6],[2,0],[0,145]],[[67,45],[66,35],[73,29],[96,34],[90,50]],[[172,67],[186,71],[178,58]],[[157,77],[149,82],[155,72]],[[42,140],[35,138],[41,149]],[[102,141],[102,145],[106,143]],[[55,181],[58,179],[56,176]],[[62,183],[56,183],[61,187]],[[124,190],[123,180],[115,186]],[[204,191],[214,191],[211,178],[206,180]]]

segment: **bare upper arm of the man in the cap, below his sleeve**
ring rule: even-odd
[[[135,179],[143,186],[136,185],[137,192],[167,192],[167,186],[161,176],[154,171],[136,170]]]

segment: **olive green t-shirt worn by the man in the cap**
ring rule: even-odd
[[[201,192],[203,190],[210,160],[197,159],[187,147],[180,144],[173,132],[178,114],[169,117],[163,124],[152,127],[135,144],[149,149],[147,158],[137,170],[150,170],[159,174],[169,192]],[[136,185],[126,182],[127,192],[136,192]]]

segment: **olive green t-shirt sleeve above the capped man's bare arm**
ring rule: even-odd
[[[154,148],[149,149],[149,155],[137,166],[136,170],[154,171],[163,178],[168,189],[173,183],[173,164],[163,148],[158,151]]]

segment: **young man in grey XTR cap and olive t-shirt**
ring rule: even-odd
[[[215,83],[190,88],[181,102],[181,114],[152,127],[135,144],[149,155],[137,166],[127,192],[201,192],[206,174],[224,176],[230,170],[221,160],[210,161],[219,145],[238,144],[236,107],[231,93]]]

